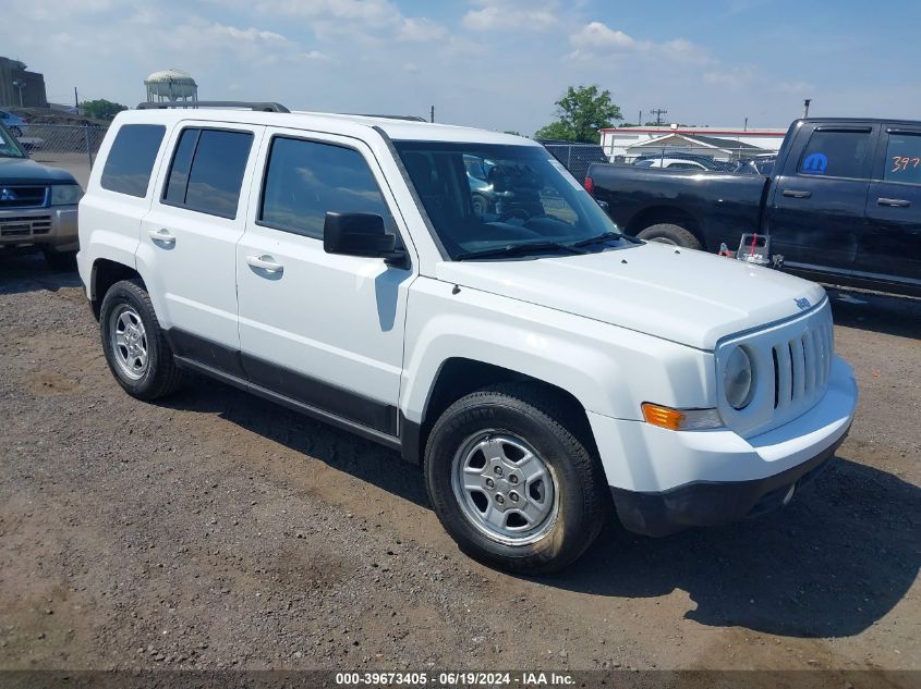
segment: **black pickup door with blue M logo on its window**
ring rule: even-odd
[[[871,124],[799,130],[765,216],[772,254],[784,255],[791,268],[852,269],[868,232],[864,207],[877,130]]]

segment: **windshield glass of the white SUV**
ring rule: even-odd
[[[453,142],[395,145],[453,260],[531,244],[571,245],[618,232],[607,213],[543,147]]]

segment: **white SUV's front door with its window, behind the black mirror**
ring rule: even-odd
[[[323,248],[328,211],[376,213],[407,236],[371,149],[275,130],[237,250],[240,344],[250,381],[362,427],[397,434],[413,271]]]

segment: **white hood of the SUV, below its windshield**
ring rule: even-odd
[[[817,284],[776,270],[655,243],[584,256],[445,261],[436,276],[706,350],[825,296]]]

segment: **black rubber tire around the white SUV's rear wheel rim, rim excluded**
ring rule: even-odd
[[[140,317],[145,332],[146,367],[138,378],[130,377],[119,364],[110,331],[112,320],[118,318],[120,312],[126,311]],[[157,320],[154,305],[140,280],[122,280],[109,288],[99,309],[99,332],[106,362],[112,376],[132,397],[157,399],[175,392],[182,385],[182,371],[175,366],[172,349]]]

